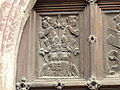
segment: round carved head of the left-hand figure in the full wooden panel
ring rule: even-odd
[[[49,16],[45,16],[42,18],[42,27],[44,29],[52,26],[54,24],[53,19]]]

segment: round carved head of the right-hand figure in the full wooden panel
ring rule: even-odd
[[[67,24],[70,25],[71,27],[76,27],[77,22],[78,22],[78,17],[77,16],[68,16],[66,21],[67,21]]]

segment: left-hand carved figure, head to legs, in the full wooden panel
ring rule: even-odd
[[[51,17],[44,17],[42,19],[43,31],[40,32],[40,38],[44,38],[46,47],[50,47],[53,44],[57,44],[59,37],[54,29],[55,23]]]

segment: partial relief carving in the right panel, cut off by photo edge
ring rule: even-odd
[[[111,32],[107,37],[107,43],[112,46],[113,50],[109,51],[109,75],[118,77],[120,75],[120,15],[114,17],[116,23],[115,30],[110,29]]]

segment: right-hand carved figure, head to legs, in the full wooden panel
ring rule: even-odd
[[[76,37],[79,36],[79,29],[76,29],[78,17],[68,16],[66,22],[67,25],[63,30],[61,40],[66,46],[73,46],[76,43]]]

